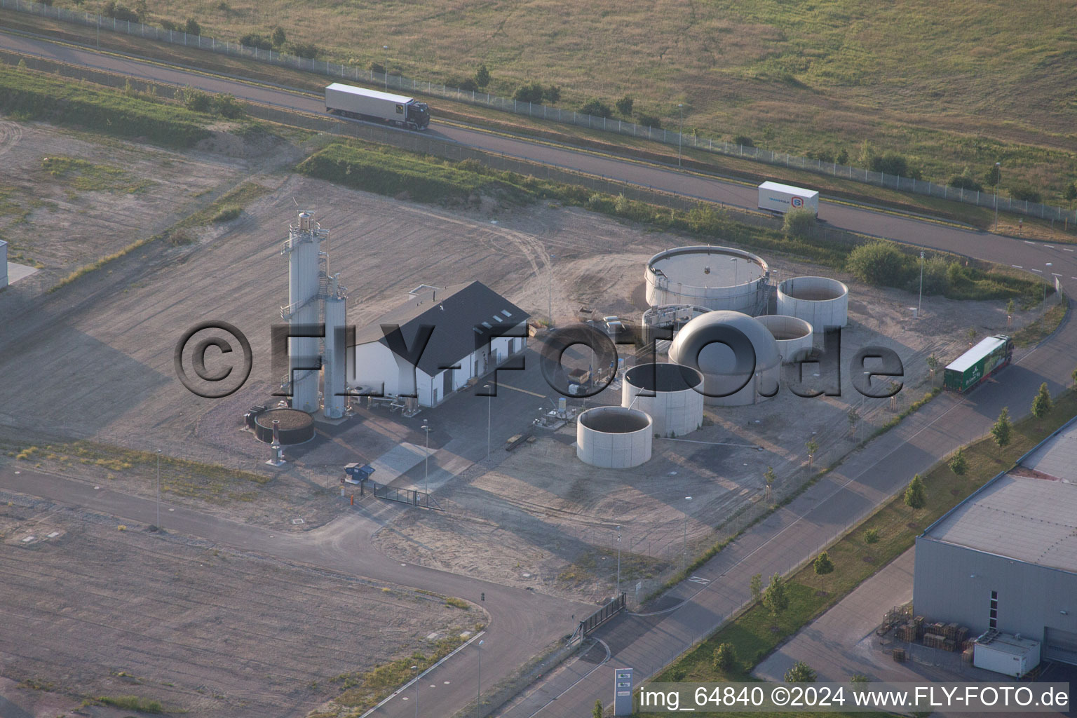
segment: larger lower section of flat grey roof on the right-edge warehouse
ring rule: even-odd
[[[1077,466],[1071,464],[1068,473],[1077,473]],[[1077,482],[1044,474],[1007,474],[959,505],[924,535],[1077,573]]]

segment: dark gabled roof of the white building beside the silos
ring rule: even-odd
[[[423,333],[429,332],[430,340],[416,367],[434,376],[529,318],[486,284],[468,282],[422,294],[389,310],[359,329],[355,343],[378,341],[408,360],[420,327],[426,326]],[[400,326],[398,337],[387,336],[391,325]]]

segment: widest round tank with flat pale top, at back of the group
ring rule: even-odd
[[[757,314],[766,307],[770,268],[761,257],[728,247],[679,247],[659,252],[644,271],[647,304],[698,305]]]

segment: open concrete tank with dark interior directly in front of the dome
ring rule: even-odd
[[[640,364],[625,372],[620,405],[651,417],[657,436],[684,436],[703,425],[703,375],[680,364]]]

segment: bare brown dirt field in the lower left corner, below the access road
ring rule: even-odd
[[[32,715],[101,695],[198,716],[305,715],[339,695],[331,678],[474,629],[474,611],[435,596],[0,499],[0,692]]]

